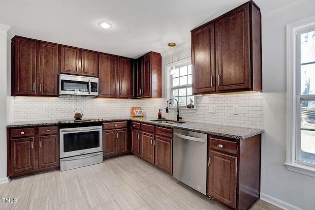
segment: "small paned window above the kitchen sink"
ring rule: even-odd
[[[167,69],[171,64],[167,64],[165,69]],[[179,101],[179,106],[181,109],[187,109],[186,105],[190,102],[190,99],[194,103],[195,98],[192,95],[192,78],[191,78],[191,58],[179,60],[173,62],[173,66],[176,67],[176,73],[171,76],[166,71],[166,97],[175,98]],[[177,106],[176,102],[172,106]],[[193,110],[193,109],[187,109]]]

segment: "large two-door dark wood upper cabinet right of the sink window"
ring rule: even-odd
[[[192,30],[191,49],[193,94],[262,91],[261,15],[252,1]]]

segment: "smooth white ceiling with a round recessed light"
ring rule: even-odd
[[[247,1],[0,0],[0,24],[19,36],[137,58],[189,41],[190,30]],[[285,1],[255,3],[263,10]],[[113,27],[102,29],[100,21]]]

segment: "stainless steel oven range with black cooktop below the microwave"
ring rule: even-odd
[[[103,161],[103,120],[60,120],[60,170]]]

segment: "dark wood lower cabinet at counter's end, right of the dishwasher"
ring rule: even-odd
[[[209,136],[207,194],[236,210],[260,197],[261,135],[247,139]]]

